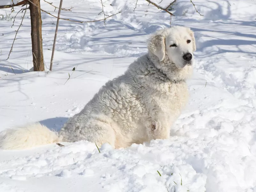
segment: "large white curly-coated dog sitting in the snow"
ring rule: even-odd
[[[134,61],[124,75],[108,81],[59,133],[39,123],[7,129],[2,132],[0,148],[78,140],[121,148],[168,139],[188,100],[186,79],[193,71],[194,51],[194,33],[189,28],[159,30],[148,41],[148,53]]]

